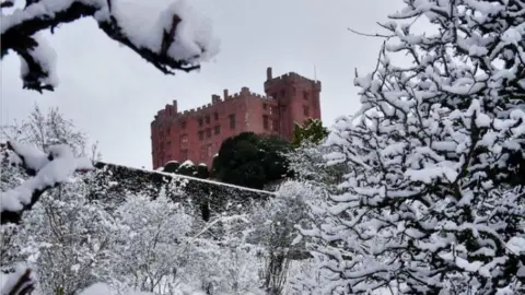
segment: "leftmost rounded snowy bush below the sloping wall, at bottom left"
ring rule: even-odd
[[[110,280],[121,229],[103,201],[88,200],[88,193],[80,178],[50,190],[24,215],[13,237],[19,261],[36,266],[44,294],[74,294]]]

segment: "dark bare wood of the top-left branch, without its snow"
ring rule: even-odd
[[[130,38],[131,36],[124,33],[118,20],[110,14],[112,3],[109,1],[106,5],[100,7],[72,0],[66,8],[46,9],[42,13],[40,11],[46,1],[49,0],[40,0],[27,5],[24,10],[15,11],[13,15],[4,16],[13,17],[5,22],[7,25],[1,31],[1,58],[8,55],[10,50],[13,50],[26,61],[30,73],[23,76],[24,88],[35,90],[40,93],[44,90],[54,91],[52,85],[42,82],[49,76],[49,72],[38,63],[38,60],[35,61],[35,58],[32,57],[32,51],[38,46],[34,35],[47,28],[50,28],[52,33],[52,30],[58,25],[70,23],[84,16],[95,17],[100,28],[109,38],[127,46],[164,74],[174,74],[175,70],[189,72],[200,68],[200,66],[191,64],[188,60],[179,60],[168,55],[168,48],[176,39],[176,28],[183,21],[176,14],[172,17],[173,23],[170,32],[164,31],[163,33],[162,48],[159,48],[159,51],[156,51],[147,48],[144,45],[137,44],[137,42]],[[7,5],[7,2],[2,2],[2,7],[4,3]],[[159,34],[162,33],[159,32]],[[200,49],[200,52],[191,58],[197,58],[200,54],[206,52],[206,48]]]

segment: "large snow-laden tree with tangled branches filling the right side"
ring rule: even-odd
[[[305,231],[320,240],[310,294],[524,292],[524,12],[407,0],[382,24],[377,68],[355,79],[362,108],[328,139],[349,173]],[[413,32],[422,19],[436,30]]]

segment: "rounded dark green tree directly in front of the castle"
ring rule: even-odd
[[[261,189],[289,173],[285,154],[289,142],[278,138],[243,132],[226,139],[213,160],[213,176],[224,182]]]

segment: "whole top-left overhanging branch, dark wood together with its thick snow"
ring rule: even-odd
[[[1,3],[1,58],[11,50],[16,52],[22,60],[24,88],[40,93],[52,91],[58,83],[57,57],[42,32],[49,28],[52,33],[61,24],[83,16],[92,16],[109,38],[133,50],[165,74],[198,69],[196,63],[217,54],[218,44],[211,38],[209,24],[183,1],[158,10],[162,11],[158,15],[144,15],[149,11],[144,3],[102,0],[32,0],[25,1],[23,9],[5,14],[15,2],[22,1],[3,0]],[[137,31],[137,25],[149,27]]]

